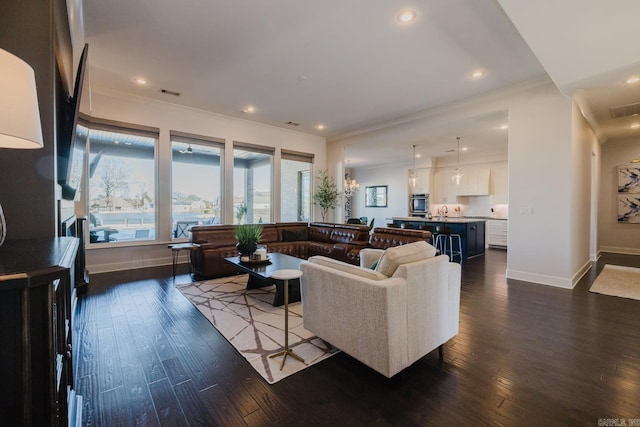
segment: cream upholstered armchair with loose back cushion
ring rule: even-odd
[[[364,249],[360,267],[309,258],[301,265],[304,327],[392,377],[458,333],[460,265],[434,254],[416,242]]]

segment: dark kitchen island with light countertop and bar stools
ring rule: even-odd
[[[467,259],[473,256],[484,255],[484,229],[486,218],[465,218],[465,217],[439,217],[428,219],[420,217],[397,217],[393,218],[394,227],[425,228],[433,227],[433,235],[436,226],[441,225],[451,229],[451,233],[459,234],[462,240],[462,258]]]

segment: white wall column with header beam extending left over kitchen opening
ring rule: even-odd
[[[582,149],[576,150],[572,136],[573,103],[548,82],[508,88],[488,96],[471,98],[415,115],[412,121],[379,126],[327,143],[329,162],[340,158],[344,147],[366,143],[367,138],[384,135],[389,141],[407,126],[436,128],[438,123],[455,122],[498,110],[509,111],[509,252],[507,277],[534,283],[570,288],[582,274],[583,253],[587,253],[572,225],[573,186],[588,166]],[[406,165],[395,170],[404,176]],[[584,194],[584,189],[578,189]],[[579,204],[581,209],[583,204]],[[531,215],[521,215],[531,208]],[[587,210],[588,212],[588,210]],[[580,230],[580,231],[577,231]],[[577,255],[573,255],[576,254]]]

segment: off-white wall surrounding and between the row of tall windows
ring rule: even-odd
[[[84,100],[88,97],[84,97]],[[326,168],[326,143],[324,137],[309,135],[289,129],[262,125],[221,114],[182,107],[167,102],[154,101],[128,94],[101,91],[93,88],[91,93],[91,116],[152,126],[160,129],[158,144],[158,241],[148,245],[113,243],[87,250],[87,267],[90,273],[140,268],[171,263],[171,143],[169,131],[177,130],[225,140],[224,196],[232,200],[233,195],[233,141],[275,147],[274,187],[280,182],[280,149],[290,149],[315,155],[313,173]],[[89,111],[83,105],[83,111]],[[315,181],[315,180],[314,180]],[[315,182],[314,182],[315,185]],[[86,192],[85,192],[86,193]],[[280,192],[274,192],[274,217],[279,218]],[[225,222],[233,218],[233,207],[226,203]],[[86,214],[86,212],[79,212]],[[315,215],[319,218],[319,214]],[[186,258],[185,258],[186,259]]]

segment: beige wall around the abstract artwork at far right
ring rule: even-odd
[[[640,158],[640,137],[607,141],[602,145],[598,209],[600,250],[640,255],[640,224],[619,223],[617,167]]]

